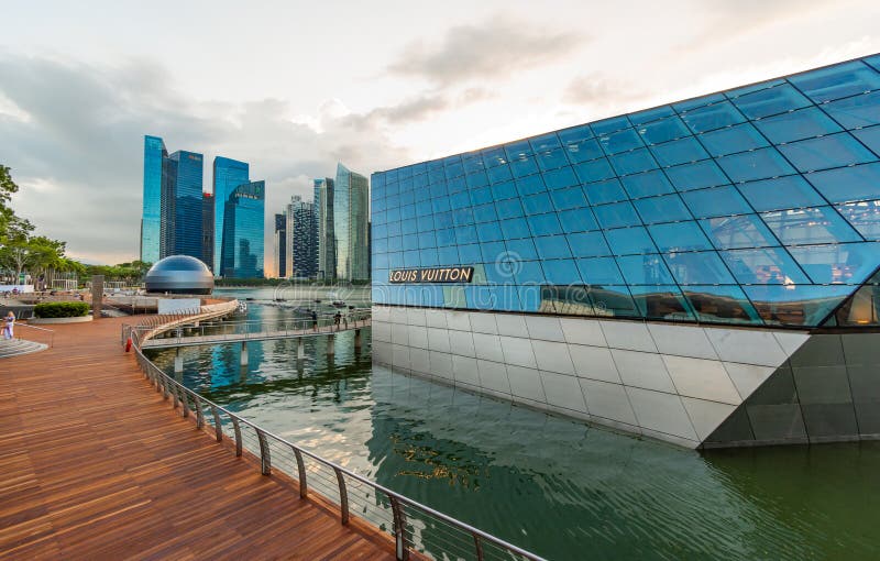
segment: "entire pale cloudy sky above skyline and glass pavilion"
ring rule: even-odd
[[[143,136],[273,215],[373,172],[880,52],[876,0],[4,0],[0,164],[87,263],[138,258]]]

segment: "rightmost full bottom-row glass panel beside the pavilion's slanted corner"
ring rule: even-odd
[[[846,286],[745,287],[768,326],[817,326],[851,292]]]

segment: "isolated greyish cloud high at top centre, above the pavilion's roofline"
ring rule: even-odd
[[[439,44],[413,43],[388,70],[441,86],[501,78],[556,62],[585,40],[580,32],[550,31],[502,15],[481,25],[450,28]]]

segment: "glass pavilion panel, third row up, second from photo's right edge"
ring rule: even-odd
[[[832,207],[765,212],[761,218],[784,245],[861,240]]]

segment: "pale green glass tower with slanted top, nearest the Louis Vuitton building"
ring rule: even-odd
[[[333,185],[333,231],[337,277],[340,279],[370,278],[369,201],[370,187],[366,177],[339,164]]]

